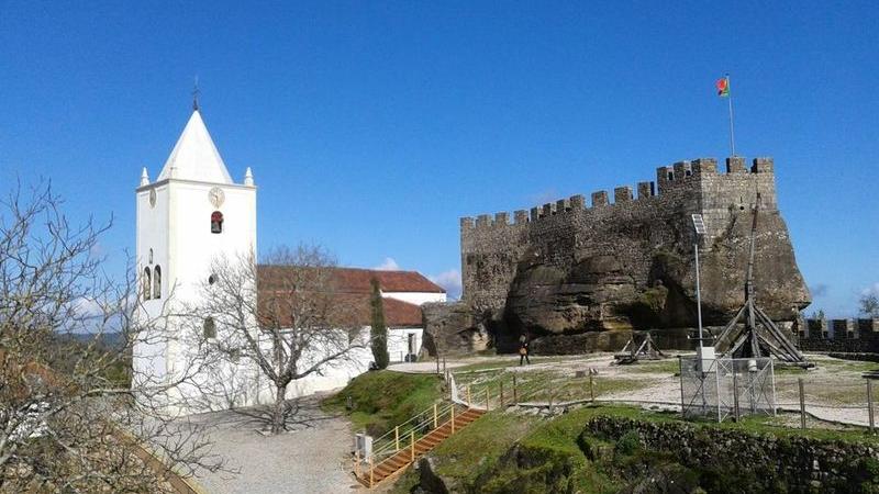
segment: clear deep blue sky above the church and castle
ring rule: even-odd
[[[196,75],[230,172],[260,186],[260,249],[439,276],[459,216],[725,157],[728,71],[813,308],[879,290],[875,2],[73,3],[0,1],[0,190],[48,177],[74,218],[114,214],[112,269]]]

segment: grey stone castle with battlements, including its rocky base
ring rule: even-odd
[[[750,167],[727,158],[725,173],[713,158],[680,161],[659,167],[655,182],[615,188],[612,201],[605,191],[590,199],[591,206],[574,195],[512,220],[507,212],[460,220],[464,294],[456,311],[477,314],[499,350],[514,351],[522,333],[535,338],[535,349],[557,349],[564,341],[548,338],[696,326],[692,213],[708,228],[699,240],[706,325],[724,324],[744,301],[758,203],[758,304],[792,322],[811,302],[778,210],[771,158]]]

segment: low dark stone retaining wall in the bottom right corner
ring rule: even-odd
[[[766,492],[779,485],[790,492],[852,492],[870,474],[868,463],[879,464],[879,451],[868,444],[777,437],[675,422],[596,417],[581,438],[619,440],[632,430],[637,431],[643,446],[670,452],[683,465],[741,472],[763,484]]]

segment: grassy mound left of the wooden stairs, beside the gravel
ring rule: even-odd
[[[437,375],[382,370],[358,375],[322,405],[327,412],[348,415],[356,429],[377,437],[424,412],[442,395],[443,381]],[[347,409],[348,396],[352,409]]]

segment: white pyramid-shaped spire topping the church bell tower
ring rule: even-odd
[[[232,183],[223,158],[220,157],[198,110],[192,112],[158,176],[158,180],[168,178]]]

